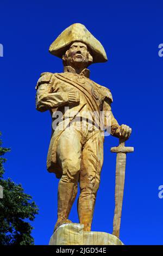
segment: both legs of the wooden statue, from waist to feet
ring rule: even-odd
[[[58,187],[58,223],[68,218],[79,181],[79,221],[84,224],[85,231],[90,231],[103,164],[103,134],[99,130],[89,130],[86,121],[84,124],[81,130],[80,123],[73,123],[58,140],[57,161],[62,169]]]

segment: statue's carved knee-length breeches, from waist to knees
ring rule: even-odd
[[[57,161],[62,169],[62,182],[79,181],[80,190],[96,193],[103,165],[103,133],[83,130],[74,122],[62,132],[57,144]]]

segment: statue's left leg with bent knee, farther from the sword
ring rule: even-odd
[[[57,160],[62,168],[62,177],[58,186],[58,221],[55,228],[68,222],[67,218],[77,195],[81,152],[78,132],[73,127],[66,129],[57,146]]]

